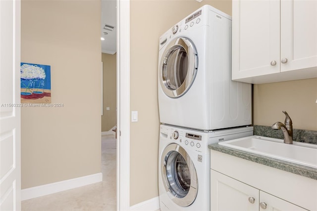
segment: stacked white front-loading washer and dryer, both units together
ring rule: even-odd
[[[160,210],[210,210],[208,145],[253,135],[251,84],[231,81],[231,17],[210,5],[159,39]]]

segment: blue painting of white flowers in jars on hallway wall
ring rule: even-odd
[[[21,63],[21,103],[51,103],[51,66]]]

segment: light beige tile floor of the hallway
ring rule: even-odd
[[[103,181],[22,201],[22,211],[115,211],[116,140],[102,136]]]

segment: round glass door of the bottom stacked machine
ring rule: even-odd
[[[161,177],[169,197],[181,207],[187,207],[196,199],[198,180],[195,166],[185,149],[169,144],[161,158]]]

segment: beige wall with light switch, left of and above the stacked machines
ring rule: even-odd
[[[231,0],[130,1],[130,205],[159,196],[159,36],[204,4],[231,15]]]

